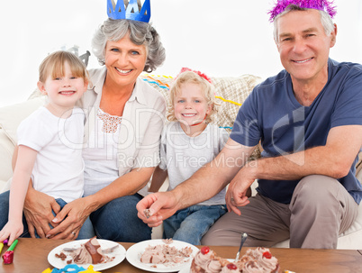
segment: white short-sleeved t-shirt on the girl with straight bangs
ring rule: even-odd
[[[82,146],[85,115],[79,108],[66,119],[41,107],[18,127],[18,144],[37,150],[33,187],[66,202],[83,196]]]

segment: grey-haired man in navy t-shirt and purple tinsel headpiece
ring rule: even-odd
[[[140,201],[139,217],[149,226],[230,181],[226,204],[233,213],[224,214],[202,244],[239,245],[247,232],[248,246],[290,238],[294,248],[336,248],[339,233],[356,219],[362,66],[329,58],[337,35],[329,1],[279,0],[270,14],[285,70],[254,88],[214,161],[173,191]],[[248,162],[258,141],[262,159]],[[248,198],[255,179],[258,194]]]

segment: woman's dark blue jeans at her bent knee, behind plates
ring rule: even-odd
[[[90,214],[97,238],[139,242],[151,239],[151,228],[137,216],[142,196],[122,196]]]

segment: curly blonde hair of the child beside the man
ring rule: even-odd
[[[181,86],[186,83],[192,83],[196,85],[200,85],[202,90],[204,91],[204,96],[207,100],[208,105],[213,105],[212,111],[210,114],[206,116],[205,122],[211,123],[213,122],[213,114],[218,112],[217,106],[219,104],[216,102],[215,99],[215,87],[211,84],[208,80],[204,77],[201,77],[194,71],[185,71],[179,74],[172,86],[169,90],[169,103],[167,107],[167,120],[170,122],[176,121],[175,117],[175,97],[181,92]]]

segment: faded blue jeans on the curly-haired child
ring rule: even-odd
[[[226,205],[191,205],[164,220],[163,236],[200,245],[204,233],[226,212]]]

